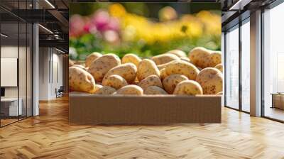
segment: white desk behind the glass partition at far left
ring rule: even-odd
[[[19,101],[19,104],[18,104]],[[1,99],[1,112],[6,116],[18,116],[23,114],[23,100],[21,98],[4,98]],[[9,110],[9,114],[8,114]]]

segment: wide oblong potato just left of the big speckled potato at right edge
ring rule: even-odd
[[[195,80],[200,70],[189,62],[178,60],[166,65],[165,72],[167,75],[180,74],[185,75],[188,79]]]

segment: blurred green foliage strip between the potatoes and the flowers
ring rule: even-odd
[[[186,28],[184,28],[186,29]],[[77,50],[77,58],[73,60],[84,60],[87,55],[93,52],[115,53],[123,57],[127,53],[134,53],[140,57],[151,57],[169,50],[180,49],[188,53],[196,46],[203,46],[211,50],[220,50],[219,37],[204,36],[203,38],[176,38],[168,41],[155,41],[147,44],[141,41],[107,43],[100,37],[93,34],[84,34],[78,38],[70,38],[70,47]]]

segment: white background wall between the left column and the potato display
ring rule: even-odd
[[[55,89],[62,86],[62,55],[54,48],[40,48],[39,52],[39,99],[55,99]]]

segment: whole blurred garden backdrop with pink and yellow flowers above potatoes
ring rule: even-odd
[[[150,57],[221,50],[221,10],[208,3],[70,3],[70,59],[93,52]]]

